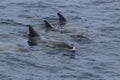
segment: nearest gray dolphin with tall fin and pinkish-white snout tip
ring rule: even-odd
[[[32,26],[29,26],[29,35],[28,35],[28,45],[29,46],[46,46],[50,48],[62,48],[75,52],[76,48],[66,41],[59,41],[55,39],[46,39],[39,36],[39,34],[33,29]]]

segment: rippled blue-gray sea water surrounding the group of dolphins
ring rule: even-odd
[[[71,24],[93,30],[74,58],[61,50],[27,50],[28,27],[61,12]],[[120,0],[0,1],[0,80],[120,80]]]

